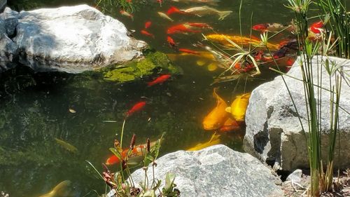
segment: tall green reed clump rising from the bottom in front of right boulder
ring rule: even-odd
[[[325,2],[325,1],[323,1]],[[308,32],[308,11],[311,0],[288,0],[288,8],[295,13],[296,35],[299,46],[298,55],[300,56],[297,64],[302,72],[302,82],[304,85],[304,98],[307,105],[307,151],[309,154],[309,166],[311,172],[311,186],[309,196],[320,196],[324,191],[332,189],[332,173],[334,167],[335,142],[337,133],[339,133],[339,101],[341,97],[342,78],[344,76],[343,65],[335,64],[328,58],[328,53],[332,46],[332,32],[326,36],[325,32],[321,36],[322,41],[310,41]],[[325,10],[324,10],[325,11]],[[327,21],[324,20],[324,21]],[[342,24],[344,26],[344,24]],[[340,26],[342,26],[340,25]],[[348,28],[349,25],[346,25]],[[341,45],[341,43],[339,43]],[[320,51],[321,50],[321,51]],[[344,50],[343,50],[344,51]],[[312,59],[321,52],[321,60],[316,63]],[[325,57],[325,58],[323,58]],[[318,57],[317,57],[318,58]],[[322,87],[323,76],[320,74],[322,69],[328,73],[330,87]],[[317,79],[314,79],[314,73],[317,73]],[[334,81],[334,82],[333,82]],[[323,118],[321,116],[322,90],[327,90],[330,94],[330,133],[328,147],[328,161],[324,172],[322,152],[321,152],[321,128]],[[304,128],[302,128],[305,133]]]

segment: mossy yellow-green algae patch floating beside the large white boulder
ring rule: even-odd
[[[101,72],[106,81],[125,83],[152,74],[181,74],[182,71],[180,67],[172,64],[164,53],[146,52],[146,57],[142,60],[134,60],[124,65],[112,65],[106,69],[101,69]]]

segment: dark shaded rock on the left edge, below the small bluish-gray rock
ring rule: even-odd
[[[8,38],[6,22],[0,18],[0,72],[15,67],[18,53],[18,45]]]

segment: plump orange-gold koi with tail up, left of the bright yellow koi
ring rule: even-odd
[[[212,109],[203,120],[204,130],[214,130],[221,128],[221,126],[228,119],[229,115],[225,109],[228,107],[228,104],[218,96],[216,93],[216,88],[214,88],[214,97],[216,98],[216,107]]]

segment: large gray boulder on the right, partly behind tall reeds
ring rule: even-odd
[[[314,65],[316,66],[314,57]],[[321,60],[321,57],[318,57]],[[349,71],[350,60],[344,60],[337,57],[331,57],[332,61],[343,64],[344,69]],[[302,79],[300,67],[297,61],[288,72],[288,75]],[[321,74],[320,74],[321,76]],[[329,86],[328,74],[325,69],[322,73],[323,84],[325,88]],[[307,111],[304,104],[304,88],[302,82],[285,77],[286,83],[293,95],[297,111],[304,125],[307,135]],[[314,79],[317,79],[317,73],[314,72]],[[344,82],[344,81],[343,81]],[[334,82],[333,82],[334,84]],[[328,88],[329,89],[329,88]],[[322,99],[317,102],[322,104],[322,124],[324,132],[322,134],[322,152],[328,152],[328,135],[330,119],[330,94],[322,91]],[[346,111],[350,111],[350,87],[343,83],[342,99],[340,106]],[[349,168],[350,166],[350,115],[342,109],[339,111],[339,129],[340,129],[340,160],[335,166]],[[281,76],[274,81],[264,83],[253,90],[248,109],[246,111],[246,135],[244,137],[244,149],[253,154],[260,160],[274,164],[274,168],[282,170],[295,170],[297,168],[309,168],[307,156],[306,138],[302,133],[300,121],[290,100],[287,88],[284,85]],[[336,151],[337,153],[337,151]],[[336,154],[337,158],[337,154]],[[323,155],[323,161],[326,161]]]

